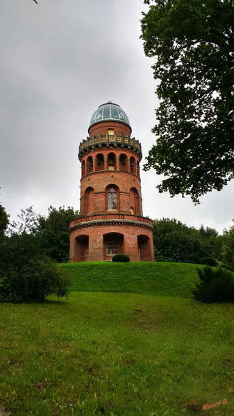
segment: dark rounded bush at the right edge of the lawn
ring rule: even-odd
[[[234,276],[229,270],[209,266],[197,269],[200,281],[192,294],[196,301],[205,303],[234,302]]]

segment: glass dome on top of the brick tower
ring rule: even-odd
[[[122,122],[130,126],[129,119],[125,111],[122,110],[118,104],[112,103],[112,101],[101,104],[101,106],[94,111],[91,117],[90,126],[99,122],[105,122],[106,120]]]

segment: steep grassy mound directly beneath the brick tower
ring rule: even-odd
[[[165,262],[84,262],[61,265],[72,274],[72,290],[133,292],[191,297],[197,267]]]

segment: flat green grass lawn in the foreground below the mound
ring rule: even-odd
[[[233,416],[231,304],[72,292],[0,308],[0,407],[8,415]]]

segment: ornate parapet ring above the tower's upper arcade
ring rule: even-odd
[[[135,152],[140,160],[142,159],[142,145],[139,140],[131,138],[130,135],[110,135],[108,132],[106,135],[101,135],[100,133],[99,135],[92,135],[91,137],[84,139],[79,145],[78,158],[81,160],[85,153],[102,147],[121,147],[129,149]]]

